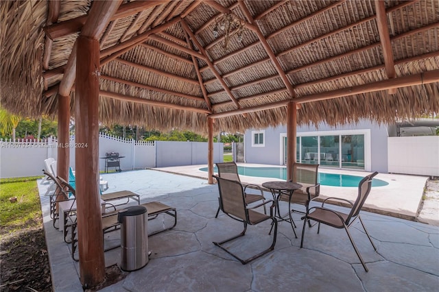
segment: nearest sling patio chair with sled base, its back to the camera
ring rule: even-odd
[[[265,200],[262,204],[249,207],[246,204],[246,193],[244,193],[244,186],[241,184],[241,182],[237,182],[236,180],[226,180],[225,178],[220,178],[217,175],[213,175],[213,178],[216,178],[218,182],[219,206],[221,210],[226,215],[228,215],[228,217],[244,223],[244,230],[240,234],[233,236],[230,239],[226,239],[225,241],[213,242],[213,244],[221,247],[222,250],[226,251],[228,254],[239,260],[243,265],[246,265],[246,263],[249,263],[251,260],[259,258],[259,256],[263,256],[263,254],[274,250],[277,236],[277,219],[276,217],[274,217],[274,208],[276,204],[274,203],[274,201],[271,199]],[[255,208],[259,208],[260,206],[266,204],[271,204],[270,215],[266,215],[254,210]],[[257,225],[268,219],[272,219],[272,226],[274,226],[273,241],[268,249],[263,250],[263,252],[260,252],[259,254],[256,254],[244,260],[239,258],[239,256],[233,254],[232,252],[230,252],[230,250],[223,246],[224,243],[244,236],[246,234],[248,225]]]

